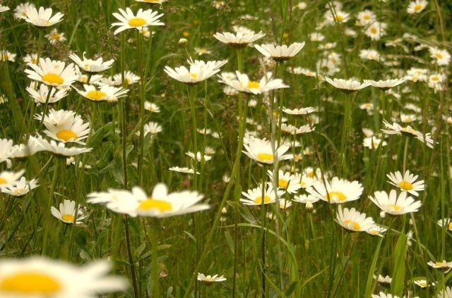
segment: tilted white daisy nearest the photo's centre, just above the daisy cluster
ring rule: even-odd
[[[271,148],[271,144],[266,139],[258,139],[257,137],[244,137],[244,147],[246,151],[242,151],[250,159],[254,159],[259,163],[272,164],[275,159],[283,161],[285,159],[292,159],[292,154],[285,154],[289,150],[289,146],[281,145],[279,148],[275,147],[275,153]]]

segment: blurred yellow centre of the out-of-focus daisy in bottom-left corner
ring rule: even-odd
[[[6,295],[45,296],[58,294],[61,283],[45,273],[25,271],[7,275],[0,283],[0,290]]]

